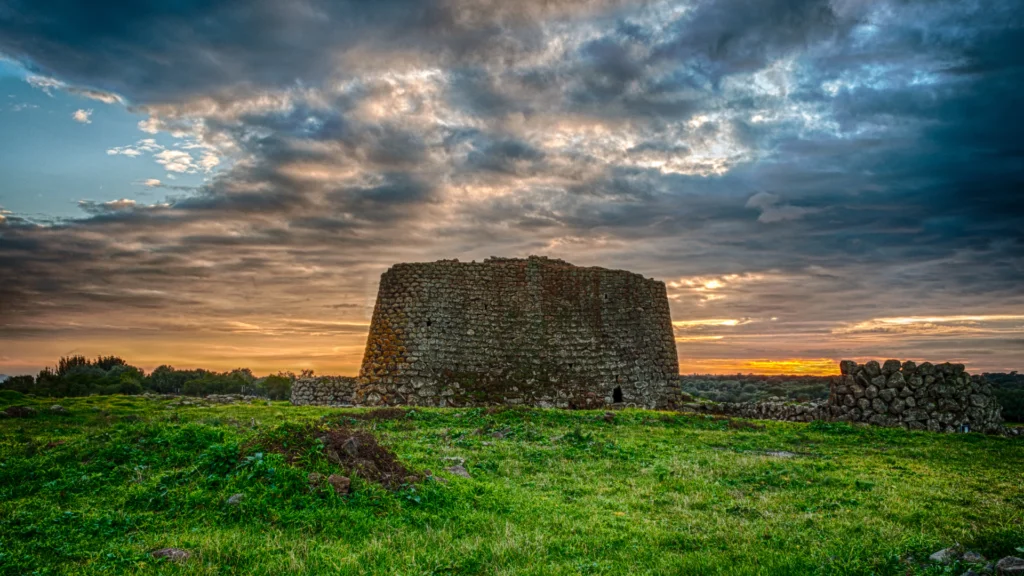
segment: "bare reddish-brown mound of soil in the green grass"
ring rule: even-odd
[[[328,429],[319,440],[328,460],[364,480],[390,490],[419,480],[368,431],[339,426]]]

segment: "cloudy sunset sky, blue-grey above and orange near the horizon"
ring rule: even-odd
[[[355,374],[395,262],[668,287],[683,373],[1024,369],[1019,0],[0,0],[0,372]]]

